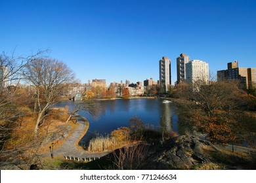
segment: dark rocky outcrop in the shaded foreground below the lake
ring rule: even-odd
[[[215,147],[207,141],[182,135],[151,148],[145,169],[190,169],[194,165],[213,161],[203,151]]]

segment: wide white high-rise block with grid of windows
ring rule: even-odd
[[[209,84],[209,64],[198,59],[186,63],[186,82],[190,84]]]

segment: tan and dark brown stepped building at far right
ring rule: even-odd
[[[238,61],[227,64],[228,69],[217,71],[217,80],[240,80],[245,89],[249,89],[255,85],[256,68],[238,67]]]

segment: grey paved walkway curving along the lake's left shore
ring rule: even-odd
[[[75,118],[78,122],[78,127],[75,129],[74,133],[62,144],[60,148],[54,149],[53,156],[71,156],[75,158],[101,158],[102,156],[106,156],[110,152],[100,152],[100,153],[92,153],[86,152],[85,150],[77,149],[76,144],[79,142],[79,138],[81,137],[83,130],[85,129],[85,125],[87,120],[78,114],[75,115]]]

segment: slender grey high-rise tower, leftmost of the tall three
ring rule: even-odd
[[[163,92],[168,92],[168,87],[171,85],[171,59],[164,56],[159,61],[160,71],[160,86],[163,87]]]

